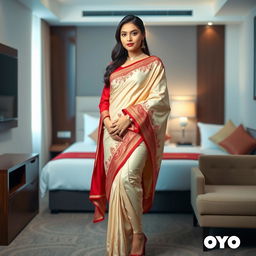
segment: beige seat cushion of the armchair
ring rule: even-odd
[[[206,185],[196,204],[201,215],[256,215],[256,186]]]

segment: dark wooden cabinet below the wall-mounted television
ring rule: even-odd
[[[0,155],[0,245],[8,245],[38,213],[38,154]]]

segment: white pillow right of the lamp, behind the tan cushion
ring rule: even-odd
[[[218,132],[224,125],[221,124],[206,124],[206,123],[197,123],[200,131],[201,138],[201,147],[202,149],[212,148],[219,149],[218,145],[209,140],[209,137]]]

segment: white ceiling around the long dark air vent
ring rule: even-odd
[[[17,0],[52,25],[116,25],[123,16],[82,16],[83,11],[192,11],[191,16],[140,16],[148,25],[237,24],[256,0]]]

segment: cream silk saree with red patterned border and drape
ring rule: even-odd
[[[111,120],[129,115],[133,122],[121,142],[103,127],[101,116],[90,200],[94,222],[104,219],[109,200],[107,255],[130,252],[133,233],[142,232],[141,216],[153,202],[170,111],[161,60],[149,56],[110,76]]]

